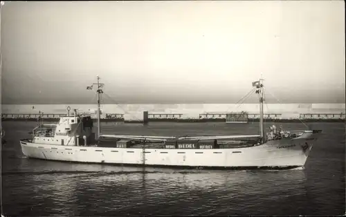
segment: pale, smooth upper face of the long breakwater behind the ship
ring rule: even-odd
[[[1,104],[1,113],[4,114],[34,114],[34,113],[66,113],[66,108],[78,109],[79,112],[95,111],[96,104]],[[318,113],[345,113],[343,104],[269,104],[264,106],[264,113],[281,113],[282,118],[298,118],[299,114]],[[125,119],[143,117],[143,111],[159,114],[183,114],[185,117],[198,118],[203,113],[230,113],[246,111],[247,113],[260,113],[259,104],[102,104],[102,113],[125,114]],[[298,115],[298,116],[297,116]],[[284,117],[287,116],[287,117]]]

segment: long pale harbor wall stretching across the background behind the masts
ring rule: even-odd
[[[71,111],[78,109],[80,112],[91,112],[95,116],[95,104],[2,104],[1,114],[26,114],[26,117],[23,117],[25,119],[30,114],[33,116],[44,113],[44,117],[57,118],[52,115],[66,114],[68,106]],[[154,119],[165,119],[165,115],[174,114],[176,115],[174,118],[180,120],[208,119],[212,121],[215,119],[223,121],[224,114],[241,111],[248,112],[249,118],[256,120],[259,118],[260,107],[259,104],[242,104],[240,106],[236,104],[102,104],[101,110],[102,119],[143,121],[143,112],[147,111],[150,121],[153,120],[152,114],[162,114],[162,117]],[[338,115],[341,113],[343,115],[340,118],[345,119],[345,104],[265,104],[264,113],[273,114],[266,117],[270,120],[339,119]],[[274,114],[277,114],[277,117]],[[303,117],[302,114],[305,116]],[[319,114],[320,117],[318,117]],[[110,116],[112,117],[110,118]],[[172,117],[168,119],[172,119]]]

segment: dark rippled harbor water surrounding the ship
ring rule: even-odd
[[[10,124],[10,123],[3,123]],[[284,123],[284,128],[295,128]],[[104,126],[108,133],[226,135],[257,126],[151,124]],[[7,128],[9,126],[6,126]],[[326,124],[305,168],[217,171],[115,167],[25,158],[12,124],[1,149],[4,216],[232,216],[345,214],[345,126]],[[187,132],[187,133],[186,133]]]

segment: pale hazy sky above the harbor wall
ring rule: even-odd
[[[104,103],[236,103],[261,76],[268,103],[345,103],[344,1],[4,3],[3,104],[90,104],[97,75]]]

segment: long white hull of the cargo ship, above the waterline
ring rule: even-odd
[[[237,149],[138,149],[62,146],[21,141],[29,158],[85,163],[145,164],[176,167],[302,167],[313,140],[303,150],[305,138],[269,141],[255,147]],[[295,146],[293,146],[293,144]],[[144,152],[144,156],[143,156]]]

